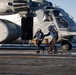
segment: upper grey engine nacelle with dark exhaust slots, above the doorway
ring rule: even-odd
[[[30,0],[31,1],[31,0]],[[0,15],[9,15],[19,13],[21,15],[27,14],[30,7],[29,0],[1,0],[0,1]]]

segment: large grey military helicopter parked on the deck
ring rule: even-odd
[[[38,28],[48,33],[50,25],[58,31],[63,50],[71,50],[76,23],[62,8],[47,0],[1,0],[0,43],[32,40]],[[9,17],[9,19],[8,19]],[[49,41],[52,36],[45,37]]]

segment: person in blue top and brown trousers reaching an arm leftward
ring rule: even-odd
[[[50,41],[50,50],[48,50],[48,52],[53,51],[54,53],[56,53],[57,49],[55,44],[58,40],[58,32],[54,29],[54,26],[52,25],[48,27],[48,30],[49,30],[49,33],[46,34],[45,36],[51,35],[53,37],[52,40]]]

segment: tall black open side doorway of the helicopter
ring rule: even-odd
[[[30,40],[33,37],[33,17],[22,17],[21,39]]]

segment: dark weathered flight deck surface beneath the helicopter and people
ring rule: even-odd
[[[76,50],[76,49],[75,49]],[[76,75],[76,51],[0,50],[0,75]]]

